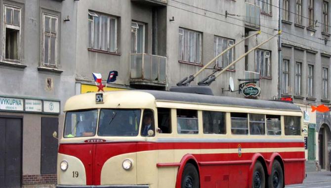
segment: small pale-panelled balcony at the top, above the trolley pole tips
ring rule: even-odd
[[[248,31],[260,30],[260,6],[245,2],[245,28]]]

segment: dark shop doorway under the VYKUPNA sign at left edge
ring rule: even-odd
[[[0,188],[20,188],[22,119],[0,118]]]

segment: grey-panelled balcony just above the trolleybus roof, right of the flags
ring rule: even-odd
[[[165,87],[166,57],[130,54],[130,85]]]

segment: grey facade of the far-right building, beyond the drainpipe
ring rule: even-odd
[[[294,98],[303,111],[311,112],[311,105],[330,104],[330,3],[282,0],[282,96]],[[330,112],[309,114],[308,168],[319,165],[330,170],[330,122]]]

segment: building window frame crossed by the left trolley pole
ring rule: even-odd
[[[222,50],[221,50],[220,53],[222,53],[222,51],[224,50],[224,47],[223,47],[223,44],[224,44],[223,41],[224,40],[226,41],[226,44],[227,44],[227,46],[225,47],[225,49],[227,49],[228,47],[231,47],[231,46],[233,46],[235,44],[235,40],[234,39],[228,39],[228,38],[224,38],[224,37],[220,37],[220,36],[214,35],[214,55],[215,55],[215,57],[218,54],[220,54],[219,53],[219,50],[218,50],[219,40],[222,41],[221,42],[222,43],[221,44]],[[234,60],[234,57],[235,57],[235,47],[233,47],[230,50],[228,50],[225,54],[223,54],[222,56],[218,57],[215,60],[215,67],[217,67],[217,68],[225,68],[225,67],[227,67]],[[230,59],[229,58],[230,52],[232,53],[231,61],[229,60]],[[235,66],[233,65],[229,69],[234,70],[235,69]]]

